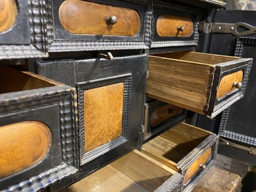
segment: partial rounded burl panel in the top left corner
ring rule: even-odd
[[[0,1],[0,33],[12,28],[17,19],[17,4],[15,0]]]

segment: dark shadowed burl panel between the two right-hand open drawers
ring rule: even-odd
[[[159,125],[161,122],[168,120],[170,117],[180,114],[181,111],[181,107],[177,107],[173,104],[165,104],[164,106],[159,107],[155,109],[154,112],[152,112],[150,115],[150,125]]]

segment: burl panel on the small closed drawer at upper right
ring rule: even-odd
[[[178,28],[183,30],[178,30]],[[190,37],[194,31],[194,22],[189,17],[161,15],[157,18],[157,34],[161,37]]]

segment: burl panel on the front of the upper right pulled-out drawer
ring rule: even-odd
[[[243,80],[243,76],[244,76],[244,72],[242,70],[239,70],[237,72],[233,72],[231,74],[224,76],[220,80],[220,84],[217,92],[217,99],[222,99],[223,97],[227,96],[233,91],[236,91],[237,88],[233,86],[234,82],[241,83],[241,81]]]

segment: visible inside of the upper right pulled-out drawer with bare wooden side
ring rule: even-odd
[[[228,57],[217,54],[204,54],[194,51],[181,51],[167,54],[156,54],[155,57],[165,57],[165,59],[178,59],[186,62],[197,62],[198,64],[219,64],[222,62],[231,62],[239,57]]]

